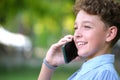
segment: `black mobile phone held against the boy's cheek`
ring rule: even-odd
[[[69,63],[78,56],[74,40],[62,46],[65,63]]]

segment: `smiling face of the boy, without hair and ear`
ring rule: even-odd
[[[87,14],[81,10],[75,20],[74,40],[78,55],[92,58],[106,52],[107,29],[96,15]]]

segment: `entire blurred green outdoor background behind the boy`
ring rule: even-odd
[[[74,0],[0,0],[0,80],[37,80],[51,44],[73,34]],[[120,73],[120,41],[113,48]],[[81,64],[61,66],[52,80],[66,80]]]

